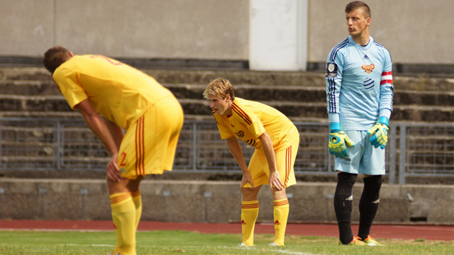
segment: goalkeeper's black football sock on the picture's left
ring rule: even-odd
[[[341,172],[338,174],[338,183],[334,193],[334,211],[338,220],[339,240],[342,244],[348,244],[353,239],[351,228],[353,185],[358,174]]]

